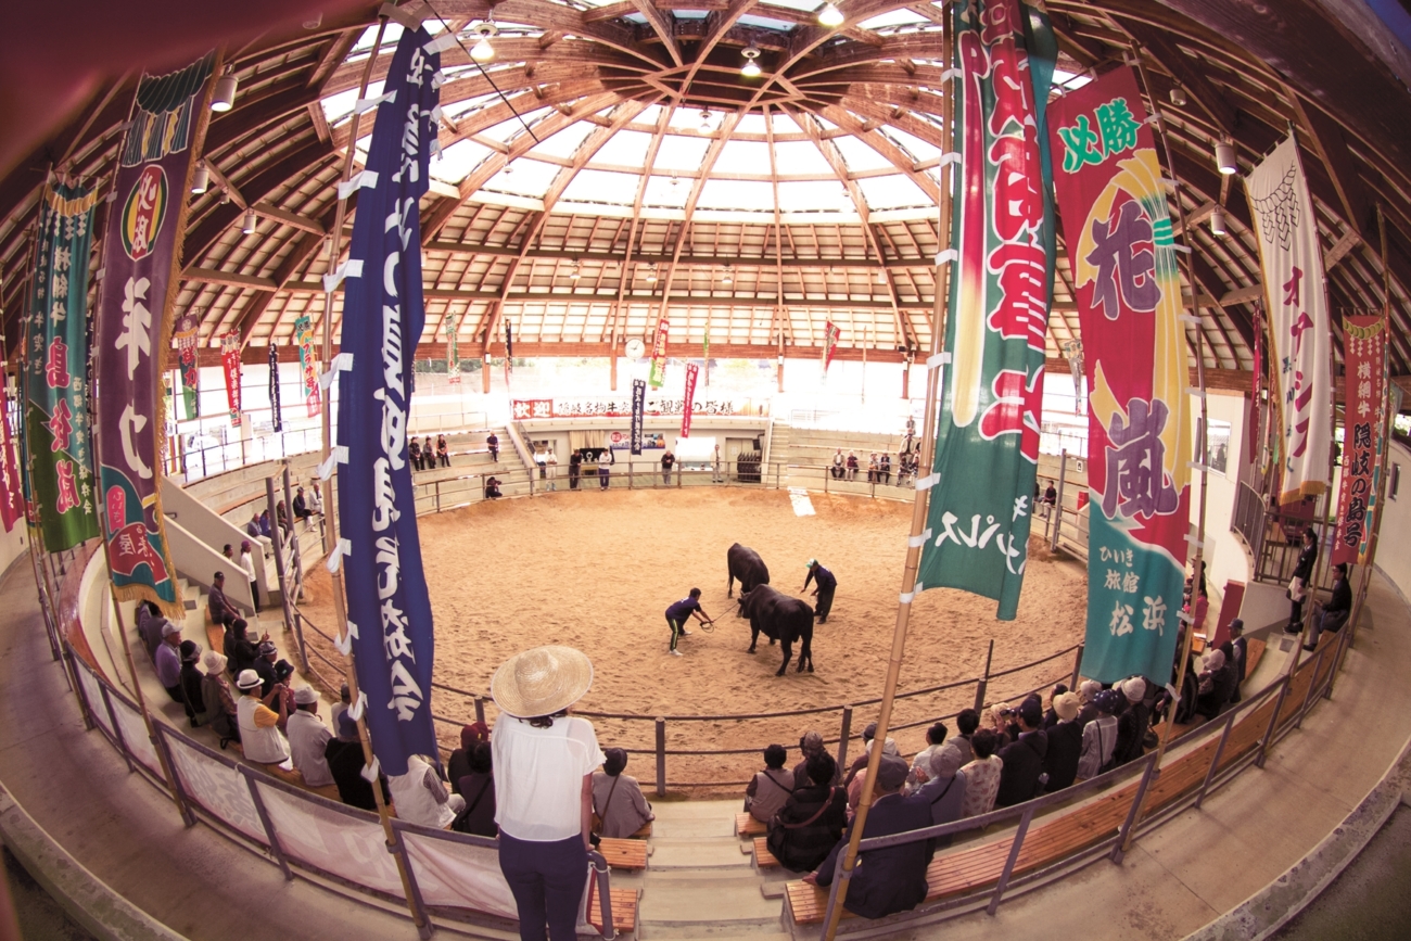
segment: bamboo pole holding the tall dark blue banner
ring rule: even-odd
[[[382,34],[387,30],[387,17],[378,17],[377,24],[377,38],[373,41],[373,52],[367,56],[367,65],[363,68],[363,79],[358,83],[357,100],[367,97],[367,86],[373,78],[373,68],[377,65],[377,58],[382,49]],[[349,127],[349,148],[343,158],[343,172],[339,175],[340,182],[347,182],[353,175],[353,154],[357,150],[357,135],[358,123],[361,121],[361,114],[357,109],[353,110],[351,124]],[[333,274],[339,264],[339,243],[343,237],[343,219],[347,214],[347,198],[339,196],[337,209],[333,213],[333,230],[329,234],[329,254],[327,254],[327,272]],[[333,360],[333,291],[327,289],[323,292],[323,348],[320,350],[320,360],[323,372],[329,370],[329,364]],[[322,372],[320,372],[322,374]],[[323,395],[323,416],[320,426],[323,429],[323,447],[320,450],[320,460],[327,461],[329,454],[333,451],[333,384],[329,384],[327,392]],[[333,549],[339,545],[339,515],[337,504],[334,502],[334,487],[333,480],[337,473],[337,466],[334,466],[333,473],[323,480],[319,487],[323,490],[323,556],[325,559],[333,557]],[[349,652],[343,657],[344,663],[344,677],[349,684],[349,696],[351,703],[356,705],[358,701],[357,688],[357,664],[353,660],[351,638],[347,636],[347,597],[344,594],[343,584],[343,567],[339,566],[337,571],[332,573],[333,580],[333,611],[337,619],[339,636],[344,643],[349,645]],[[373,755],[373,739],[367,734],[367,718],[363,710],[358,710],[357,715],[357,736],[363,745],[363,763],[367,767],[378,767],[377,759]],[[377,818],[382,824],[382,835],[387,841],[387,849],[392,854],[392,859],[396,861],[396,875],[402,879],[402,897],[406,901],[406,909],[411,911],[412,923],[416,924],[418,933],[423,938],[430,937],[430,925],[422,918],[420,911],[418,911],[416,903],[413,901],[412,880],[406,872],[406,858],[404,854],[396,852],[398,845],[396,834],[392,831],[392,820],[387,813],[387,800],[382,797],[382,783],[381,777],[373,780],[373,800],[377,801]]]

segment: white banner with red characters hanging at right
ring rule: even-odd
[[[1268,401],[1280,416],[1278,502],[1328,490],[1332,396],[1318,219],[1294,135],[1245,178],[1268,299]]]

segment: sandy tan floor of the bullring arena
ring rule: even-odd
[[[557,492],[533,499],[485,502],[419,521],[426,577],[436,615],[436,679],[487,693],[495,667],[509,655],[540,643],[566,643],[593,659],[593,688],[579,708],[641,715],[776,712],[876,698],[882,693],[896,624],[910,504],[813,494],[816,516],[794,516],[789,494],[746,490]],[[751,546],[769,566],[770,584],[800,593],[804,561],[817,556],[838,577],[825,625],[813,638],[813,673],[783,677],[779,648],[761,639],[753,656],[748,621],[725,597],[725,550]],[[995,619],[995,602],[952,590],[923,593],[913,605],[902,669],[902,690],[916,690],[981,673],[989,641],[993,672],[1031,662],[1082,639],[1086,573],[1072,561],[1031,556],[1012,622]],[[303,609],[333,625],[329,580],[322,566]],[[684,656],[667,655],[663,611],[701,588],[711,632],[694,625],[682,639]],[[811,587],[810,587],[811,590]],[[737,584],[738,594],[738,584]],[[330,659],[332,648],[323,645]],[[794,648],[797,657],[797,645]],[[1072,659],[993,680],[989,701],[1067,677]],[[920,722],[971,705],[975,687],[928,694],[897,704],[893,724]],[[473,718],[471,704],[436,691],[440,715]],[[487,718],[494,720],[494,704]],[[856,710],[854,735],[876,718]],[[693,796],[738,793],[738,786],[680,787],[694,782],[745,782],[763,766],[759,749],[790,748],[817,728],[837,738],[841,712],[782,720],[667,724],[667,748],[745,749],[742,755],[669,756],[672,790]],[[605,746],[650,751],[650,721],[594,720]],[[954,731],[954,724],[951,724]],[[459,745],[457,731],[439,724],[440,739]],[[924,746],[924,725],[900,729],[904,753]],[[851,746],[856,755],[856,742]],[[628,773],[649,786],[650,755],[632,755]]]

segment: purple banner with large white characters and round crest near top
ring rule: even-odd
[[[171,348],[181,284],[178,237],[206,134],[214,56],[168,75],[144,75],[119,148],[116,202],[103,236],[103,289],[93,327],[99,395],[99,478],[109,569],[120,600],[155,601],[185,618],[166,547],[159,475],[164,403],[159,375]]]

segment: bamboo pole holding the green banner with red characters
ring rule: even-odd
[[[955,11],[947,4],[944,21],[941,23],[941,48],[948,66],[955,65],[954,49],[954,20]],[[955,117],[955,79],[954,68],[947,69],[947,79],[943,83],[941,126],[954,127]],[[954,145],[954,144],[952,144]],[[955,168],[958,161],[943,161],[940,168],[940,219],[937,238],[940,253],[952,247],[951,233],[951,192],[955,186]],[[937,255],[940,260],[940,254]],[[862,799],[858,801],[858,813],[852,820],[848,832],[848,848],[842,855],[842,866],[837,873],[837,883],[827,918],[823,927],[823,941],[834,941],[838,933],[838,921],[842,918],[842,903],[848,897],[848,882],[852,870],[858,865],[858,844],[862,841],[862,831],[866,828],[868,811],[872,808],[872,796],[876,787],[878,769],[882,765],[882,742],[886,741],[888,729],[892,724],[892,704],[896,700],[896,688],[902,677],[902,655],[906,650],[906,633],[912,619],[912,597],[916,593],[916,576],[921,564],[921,533],[926,530],[926,516],[930,509],[931,485],[921,485],[931,475],[931,464],[935,459],[935,426],[937,426],[937,398],[941,388],[941,372],[944,365],[937,361],[945,346],[945,320],[950,313],[950,282],[951,262],[941,261],[935,265],[935,298],[931,308],[931,353],[926,370],[926,425],[921,429],[921,453],[916,487],[916,498],[912,504],[910,539],[906,547],[906,564],[902,570],[902,594],[896,608],[896,628],[892,632],[892,653],[888,659],[886,681],[882,690],[882,708],[878,712],[876,748],[868,751],[866,776],[862,782]],[[827,354],[825,354],[827,356]]]

